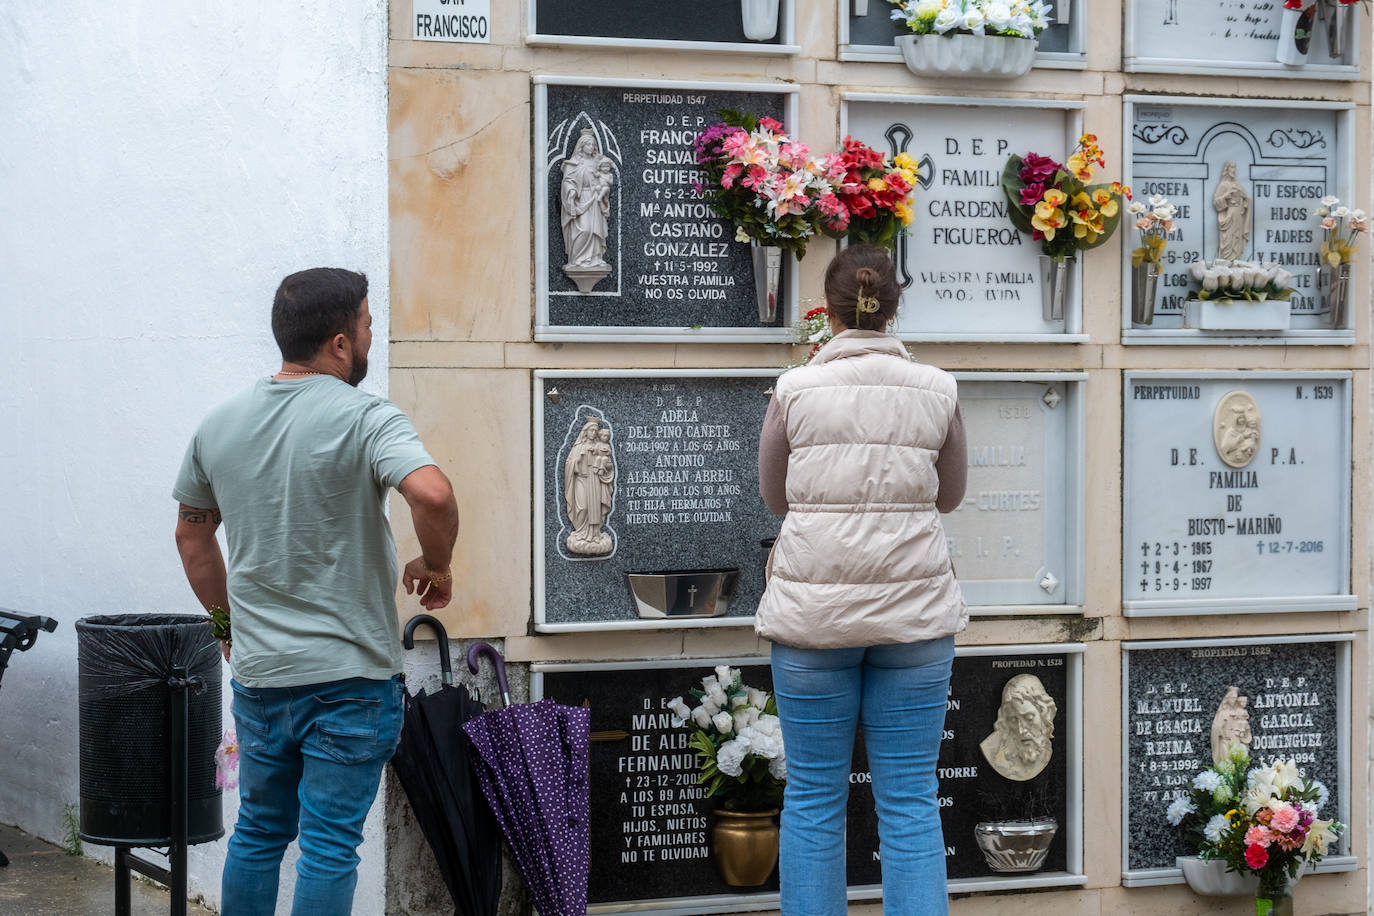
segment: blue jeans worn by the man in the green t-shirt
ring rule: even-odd
[[[363,821],[401,735],[400,678],[234,687],[239,823],[221,887],[224,916],[272,916],[282,854],[300,834],[293,916],[346,916]]]

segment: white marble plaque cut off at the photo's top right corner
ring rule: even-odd
[[[1276,58],[1283,21],[1281,0],[1129,0],[1125,5],[1125,69],[1358,80],[1356,36],[1369,26],[1355,15],[1358,12],[1358,7],[1347,11],[1344,45],[1333,48],[1326,22],[1318,21],[1307,63],[1286,66]]]

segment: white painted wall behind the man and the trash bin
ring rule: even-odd
[[[58,840],[78,797],[73,622],[196,610],[172,482],[201,416],[275,368],[283,275],[368,273],[385,393],[386,32],[385,0],[0,4],[0,606],[60,621],[0,685],[3,823]],[[210,901],[223,858],[192,850]]]

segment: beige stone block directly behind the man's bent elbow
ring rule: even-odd
[[[530,618],[530,387],[508,369],[392,369],[390,396],[453,483],[460,527],[449,636],[523,636]],[[400,556],[419,553],[405,500],[392,500]],[[418,611],[401,593],[401,617]]]

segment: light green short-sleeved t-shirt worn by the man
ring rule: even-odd
[[[224,516],[236,681],[401,670],[386,493],[426,464],[398,407],[333,376],[262,379],[205,417],[172,494]]]

